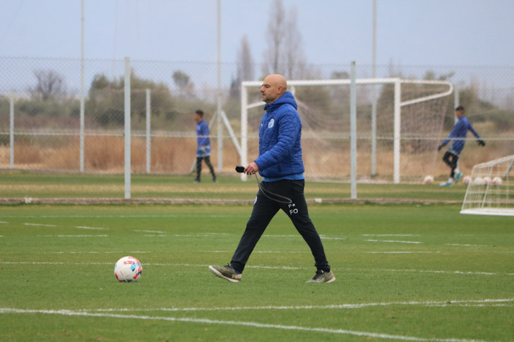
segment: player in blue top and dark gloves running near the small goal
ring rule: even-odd
[[[451,173],[450,178],[448,178],[448,182],[440,183],[441,186],[451,186],[453,185],[453,182],[457,183],[462,177],[462,172],[460,172],[458,168],[457,161],[459,160],[460,152],[462,152],[462,149],[464,149],[464,145],[466,143],[466,135],[467,131],[471,130],[471,133],[477,138],[477,142],[479,146],[485,146],[486,143],[484,140],[480,139],[480,135],[477,133],[476,130],[474,130],[473,126],[471,126],[470,121],[467,121],[467,118],[464,116],[464,107],[458,106],[455,108],[455,116],[457,116],[458,121],[455,123],[455,126],[453,127],[453,130],[448,135],[448,138],[446,138],[439,147],[437,147],[438,151],[441,151],[441,149],[450,142],[450,140],[453,139],[453,143],[450,148],[445,152],[443,156],[443,161],[450,166]]]

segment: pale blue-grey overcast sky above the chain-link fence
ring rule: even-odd
[[[275,0],[221,0],[222,61],[266,49]],[[373,0],[283,0],[306,61],[372,63]],[[377,0],[378,64],[514,66],[513,0]],[[80,58],[80,0],[0,0],[0,56]],[[85,0],[85,58],[217,60],[217,0]]]

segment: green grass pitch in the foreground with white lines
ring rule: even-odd
[[[283,213],[241,283],[213,276],[248,204],[1,206],[0,340],[514,340],[512,217],[458,204],[309,210],[333,283],[305,283],[313,258]],[[143,264],[137,283],[114,278],[125,255]]]

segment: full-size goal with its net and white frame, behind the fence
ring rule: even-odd
[[[421,183],[434,170],[453,86],[444,80],[357,78],[357,180]],[[241,164],[258,154],[261,82],[241,84]],[[302,121],[306,176],[350,181],[350,80],[289,80]],[[375,99],[373,106],[373,98]],[[453,116],[452,116],[453,117]],[[437,163],[441,164],[442,163]],[[243,176],[244,177],[244,176]]]

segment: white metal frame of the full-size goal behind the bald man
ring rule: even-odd
[[[288,80],[287,85],[288,88],[294,93],[301,89],[301,87],[326,87],[329,89],[330,87],[336,86],[348,86],[350,85],[350,79],[330,79],[330,80]],[[401,123],[401,111],[403,107],[412,106],[414,104],[419,104],[421,102],[430,102],[435,99],[441,99],[444,97],[448,97],[448,95],[453,93],[453,85],[449,81],[445,80],[405,80],[401,78],[357,78],[355,80],[356,85],[389,85],[393,87],[392,98],[390,99],[393,102],[393,134],[391,140],[393,140],[393,183],[400,183],[400,149],[401,149],[401,139],[402,139],[402,123]],[[250,90],[256,90],[256,88],[261,87],[261,81],[244,81],[241,83],[241,164],[248,164],[248,121],[249,121],[249,110],[255,107],[262,107],[263,102],[249,102],[251,101],[251,97],[249,96]],[[438,85],[443,86],[443,90],[437,90],[432,94],[419,94],[414,98],[404,99],[402,97],[402,85],[412,85],[412,87],[416,85]],[[349,90],[349,89],[348,89]],[[357,94],[353,94],[353,96],[359,97],[359,91],[357,90]],[[295,97],[297,95],[295,94]],[[349,97],[348,94],[345,94],[345,97]],[[407,96],[405,96],[407,97]],[[298,98],[297,98],[298,100]],[[348,98],[340,99],[344,102],[349,102]],[[298,101],[297,101],[298,102]],[[371,102],[370,102],[371,103]],[[302,115],[302,110],[299,109],[300,115]],[[303,120],[303,119],[302,119]],[[321,129],[322,130],[322,129]],[[373,136],[371,137],[372,141],[376,141],[376,130],[372,130]],[[323,135],[325,133],[321,133]],[[342,132],[340,132],[340,135]],[[357,136],[359,136],[359,132],[356,132]],[[326,135],[324,135],[326,136]],[[349,137],[351,139],[351,137]],[[376,154],[373,150],[371,159],[373,161],[376,159]],[[374,163],[373,163],[374,164]],[[246,180],[246,175],[241,175],[241,180]]]

